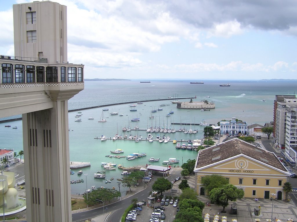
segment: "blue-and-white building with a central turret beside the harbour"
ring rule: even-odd
[[[247,129],[247,122],[241,122],[237,121],[236,118],[232,117],[231,121],[220,121],[220,131],[221,134],[231,134],[231,135],[237,135],[237,134],[248,134]]]

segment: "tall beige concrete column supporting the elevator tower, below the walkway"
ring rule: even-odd
[[[23,114],[27,221],[72,221],[68,101]]]

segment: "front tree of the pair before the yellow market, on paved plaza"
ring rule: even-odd
[[[228,183],[222,187],[214,188],[209,192],[210,199],[217,205],[222,206],[223,213],[225,212],[225,207],[228,206],[228,201],[236,201],[236,199],[241,199],[244,196],[244,191],[238,189],[236,186]]]

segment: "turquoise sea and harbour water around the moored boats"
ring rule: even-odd
[[[106,123],[98,123],[102,115],[102,108],[83,110],[82,122],[75,122],[75,114],[77,112],[69,112],[69,146],[70,146],[70,160],[90,162],[91,167],[83,168],[83,174],[88,174],[88,188],[92,185],[96,187],[116,187],[118,182],[116,178],[120,178],[121,170],[109,171],[106,173],[106,178],[115,179],[111,183],[105,184],[103,179],[94,179],[93,174],[97,170],[102,169],[101,162],[114,162],[124,166],[139,166],[145,165],[148,158],[161,158],[159,162],[154,164],[162,165],[163,160],[168,158],[180,159],[185,162],[188,159],[194,159],[197,152],[188,150],[176,150],[172,142],[167,144],[154,141],[149,143],[140,141],[135,143],[131,140],[125,141],[111,141],[106,140],[101,142],[95,137],[105,135],[113,137],[115,134],[124,135],[123,127],[131,124],[133,129],[136,124],[140,129],[147,129],[148,126],[171,126],[178,129],[180,125],[173,125],[171,123],[200,123],[201,120],[206,120],[207,123],[216,124],[217,122],[226,119],[230,120],[232,117],[247,121],[250,125],[258,123],[264,125],[266,122],[273,121],[273,102],[275,95],[293,95],[296,90],[296,82],[289,81],[204,81],[204,84],[189,84],[190,81],[151,81],[151,83],[140,83],[139,81],[86,81],[85,89],[78,95],[69,100],[69,110],[93,107],[99,105],[107,105],[131,101],[144,101],[153,99],[168,99],[164,101],[144,102],[143,104],[136,104],[136,112],[129,111],[130,104],[122,104],[117,106],[108,106],[109,111],[105,111],[104,118]],[[230,83],[230,87],[219,87],[219,84]],[[214,101],[216,108],[211,111],[200,112],[200,110],[180,110],[176,108],[176,104],[170,101],[175,100],[176,97],[197,97],[194,101],[207,99]],[[205,98],[209,96],[209,98]],[[262,102],[265,99],[266,102]],[[189,99],[179,99],[180,101],[189,101]],[[160,104],[163,106],[162,111],[158,111],[153,115],[155,118],[150,120],[148,117],[152,109],[159,108]],[[169,111],[173,111],[170,117],[166,117]],[[119,112],[123,116],[113,115],[109,112]],[[88,120],[89,117],[94,117],[94,120]],[[132,118],[140,118],[139,122],[131,122]],[[11,127],[4,127],[5,125]],[[17,126],[18,129],[12,129]],[[190,126],[185,126],[190,129]],[[168,134],[171,139],[200,139],[202,137],[203,127],[192,126],[192,129],[197,129],[197,134],[184,134],[176,132],[175,134]],[[133,135],[142,135],[146,138],[146,131],[131,131]],[[13,121],[10,123],[0,123],[1,134],[1,149],[14,149],[15,152],[23,150],[23,135],[22,135],[22,121]],[[160,134],[160,133],[158,133]],[[153,134],[154,138],[156,133]],[[161,134],[164,135],[164,134]],[[3,139],[5,138],[5,140]],[[184,142],[187,144],[187,142]],[[110,150],[122,149],[125,156],[131,153],[146,153],[146,157],[138,158],[133,161],[127,161],[125,158],[109,158],[105,155],[110,154]],[[75,174],[71,175],[71,179],[86,177]],[[82,193],[86,189],[86,183],[72,184],[71,193]],[[121,191],[125,192],[125,188],[121,187]]]

